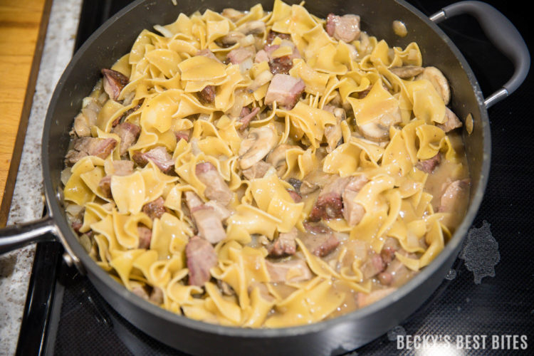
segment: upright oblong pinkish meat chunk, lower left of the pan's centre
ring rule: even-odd
[[[211,244],[193,236],[185,246],[187,268],[189,268],[189,285],[204,286],[211,275],[210,268],[217,266],[217,255]]]

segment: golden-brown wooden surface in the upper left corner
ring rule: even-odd
[[[0,1],[0,226],[5,226],[52,0]]]

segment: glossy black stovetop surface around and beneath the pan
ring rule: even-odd
[[[84,1],[77,48],[129,2]],[[430,15],[453,1],[411,2]],[[505,1],[487,2],[518,26],[528,45],[533,43],[524,9]],[[440,26],[464,53],[484,95],[506,83],[511,63],[491,46],[473,19],[459,16]],[[449,275],[402,325],[349,355],[534,354],[533,75],[510,98],[488,110],[492,134],[488,187]],[[115,313],[87,278],[63,263],[62,252],[57,243],[38,244],[18,355],[182,355]],[[492,261],[484,265],[472,254]],[[411,349],[406,347],[409,341]],[[510,350],[514,341],[519,349],[528,349]],[[495,345],[498,350],[492,350]]]

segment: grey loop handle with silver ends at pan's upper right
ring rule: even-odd
[[[484,100],[484,105],[488,109],[513,93],[523,83],[530,68],[530,54],[523,37],[513,23],[493,6],[481,1],[460,1],[451,4],[430,16],[429,19],[439,23],[461,14],[474,16],[493,46],[508,57],[515,68],[512,78],[501,89]]]

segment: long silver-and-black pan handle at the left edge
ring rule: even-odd
[[[52,233],[52,234],[48,234]],[[0,229],[0,254],[38,241],[56,240],[56,225],[50,216]]]

